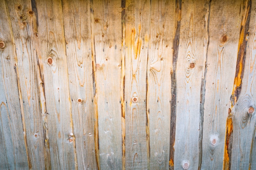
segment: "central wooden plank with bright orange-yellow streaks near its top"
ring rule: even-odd
[[[146,77],[150,1],[126,0],[125,130],[126,170],[149,168],[146,132]]]

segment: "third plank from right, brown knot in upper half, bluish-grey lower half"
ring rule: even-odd
[[[182,1],[176,81],[174,169],[199,165],[200,91],[204,72],[204,1]]]

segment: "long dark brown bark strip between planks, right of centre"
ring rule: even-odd
[[[177,82],[176,82],[176,67],[179,52],[180,42],[180,20],[181,20],[182,0],[176,0],[175,13],[177,14],[176,32],[173,39],[173,68],[171,71],[171,126],[170,126],[170,157],[169,169],[174,168],[174,144],[176,130],[176,100],[177,100]]]

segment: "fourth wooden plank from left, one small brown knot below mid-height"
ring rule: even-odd
[[[63,0],[70,98],[79,170],[96,170],[90,0]]]

